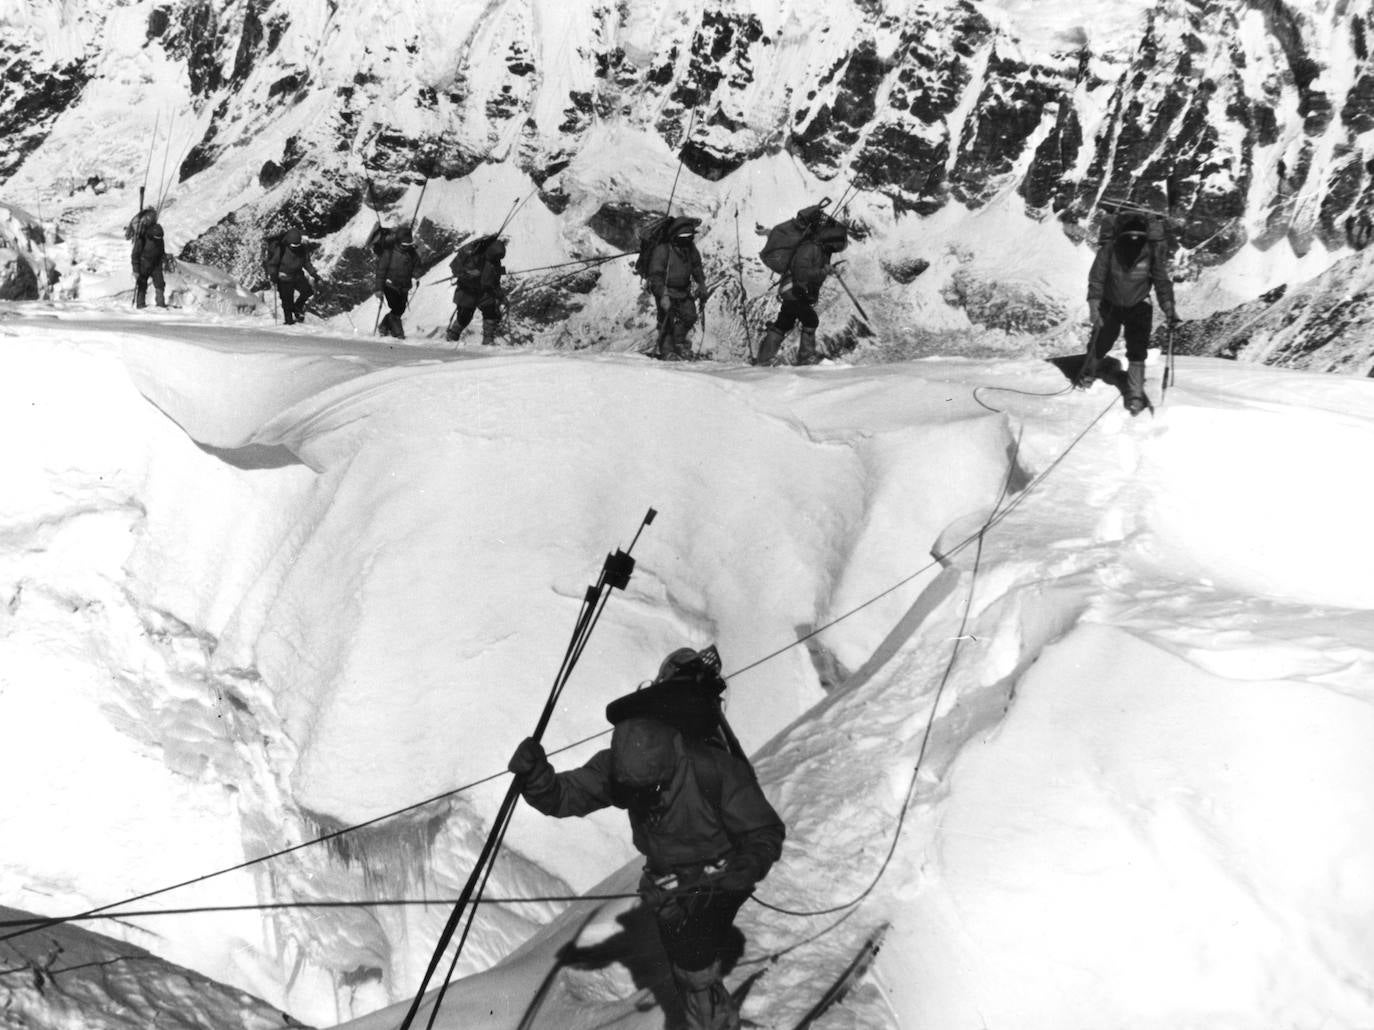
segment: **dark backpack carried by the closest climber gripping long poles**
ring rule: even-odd
[[[720,652],[712,645],[702,651],[695,662],[613,700],[606,706],[606,720],[611,725],[627,718],[653,718],[666,722],[683,735],[688,751],[703,747],[725,751],[739,758],[753,775],[754,766],[725,720],[720,700],[724,692]],[[716,764],[694,762],[692,769],[702,794],[719,808],[721,783]]]

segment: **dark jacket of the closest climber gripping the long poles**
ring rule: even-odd
[[[703,764],[713,768],[699,773]],[[719,806],[702,787],[712,777],[720,784]],[[763,879],[782,854],[786,835],[749,765],[703,744],[684,746],[672,783],[649,813],[628,809],[617,797],[609,748],[563,773],[541,765],[525,780],[523,795],[533,808],[559,819],[611,806],[627,809],[635,847],[655,875],[743,856]]]

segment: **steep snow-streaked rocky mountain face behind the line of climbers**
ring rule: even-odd
[[[533,192],[511,268],[625,249],[672,195],[708,220],[708,349],[735,354],[772,306],[754,224],[853,187],[846,280],[875,324],[835,291],[831,347],[1077,346],[1103,199],[1168,211],[1184,313],[1364,246],[1370,25],[1336,0],[11,0],[0,183],[113,229],[150,181],[181,253],[249,284],[264,229],[298,221],[334,312],[370,293],[368,183],[434,261]],[[607,323],[649,324],[624,262],[523,279],[510,338]]]

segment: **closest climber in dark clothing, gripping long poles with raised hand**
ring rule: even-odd
[[[525,801],[547,816],[625,809],[646,858],[639,891],[654,909],[688,1030],[739,1027],[721,959],[735,913],[778,861],[785,835],[749,761],[699,732],[714,726],[723,689],[713,647],[679,648],[650,687],[611,702],[610,747],[587,765],[555,773],[534,739],[510,761]],[[683,699],[706,714],[683,721]]]

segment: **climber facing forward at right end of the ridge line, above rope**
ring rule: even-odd
[[[1098,361],[1106,357],[1116,338],[1125,330],[1125,408],[1139,415],[1147,405],[1145,396],[1145,358],[1150,346],[1150,287],[1169,323],[1178,321],[1173,309],[1173,283],[1169,280],[1164,222],[1129,211],[1116,220],[1105,233],[1088,272],[1088,317],[1092,335],[1079,374],[1079,386],[1096,379]]]

